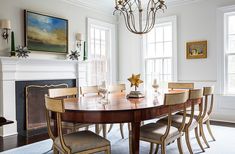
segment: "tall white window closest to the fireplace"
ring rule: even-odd
[[[113,60],[115,26],[88,18],[87,30],[88,60],[79,66],[79,85],[100,85],[102,81],[111,82],[114,80],[111,70],[115,67]]]

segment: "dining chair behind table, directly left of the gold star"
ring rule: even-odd
[[[126,90],[126,85],[125,84],[116,84],[116,85],[109,85],[108,86],[108,93],[124,92],[125,90]],[[124,123],[119,124],[122,139],[124,139],[123,125],[124,125]],[[104,127],[106,127],[106,126],[107,125],[105,125]],[[111,131],[112,128],[113,128],[113,124],[110,124],[108,133]]]

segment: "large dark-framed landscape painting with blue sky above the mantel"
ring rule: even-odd
[[[68,53],[68,20],[24,11],[25,45],[32,51]]]

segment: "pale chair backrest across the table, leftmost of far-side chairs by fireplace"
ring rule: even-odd
[[[76,97],[78,94],[77,87],[72,88],[54,88],[48,90],[49,97],[58,98],[58,97]]]

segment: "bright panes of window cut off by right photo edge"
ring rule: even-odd
[[[235,94],[235,12],[225,14],[225,90]]]

